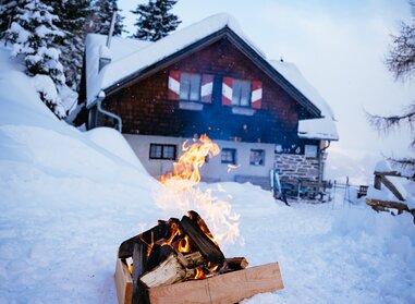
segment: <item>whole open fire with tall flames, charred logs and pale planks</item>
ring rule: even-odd
[[[215,234],[218,232],[222,243],[233,243],[239,238],[236,222],[239,217],[231,214],[230,204],[216,198],[211,194],[211,190],[204,192],[196,187],[200,181],[199,170],[206,157],[218,155],[220,151],[218,145],[203,135],[198,141],[194,141],[193,145],[187,145],[185,142],[183,151],[179,161],[174,163],[173,172],[161,178],[164,191],[156,200],[161,207],[169,206],[180,210],[187,208],[186,210],[190,211],[181,219],[159,220],[156,227],[120,245],[118,256],[124,267],[127,267],[127,276],[132,278],[133,287],[131,300],[125,300],[125,302],[120,300],[119,293],[119,300],[123,303],[149,303],[149,301],[151,303],[182,303],[184,300],[180,301],[176,297],[184,299],[184,294],[178,293],[178,291],[175,291],[178,294],[173,294],[174,291],[169,291],[173,297],[170,299],[170,295],[166,297],[162,290],[164,287],[179,287],[180,282],[185,282],[185,285],[180,285],[180,288],[184,288],[187,296],[190,294],[194,296],[194,300],[186,297],[188,303],[210,303],[215,299],[215,294],[209,288],[208,297],[204,300],[203,294],[206,296],[207,287],[187,287],[187,284],[202,279],[208,281],[219,277],[228,278],[227,276],[230,273],[242,272],[235,270],[242,270],[248,265],[244,257],[225,258],[205,220],[198,212],[191,210],[191,207],[197,207],[206,215],[209,223],[213,223]],[[118,263],[115,278],[121,276],[119,266],[122,264]],[[282,288],[281,280],[278,282],[269,280],[270,276],[274,276],[277,272],[279,275],[278,264],[270,264],[270,267],[264,268],[267,269],[266,271],[264,269],[255,270],[255,268],[258,267],[248,269],[254,273],[255,282],[252,285],[246,285],[249,282],[248,272],[236,275],[229,280],[234,284],[241,280],[237,288],[242,288],[244,291],[235,292],[231,297],[229,295],[218,297],[219,302],[234,303],[257,292]],[[266,277],[264,287],[258,288],[257,272],[261,273],[259,277]],[[223,289],[223,287],[221,288]],[[198,292],[202,293],[198,294]]]

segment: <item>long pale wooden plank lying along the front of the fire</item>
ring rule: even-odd
[[[261,292],[283,289],[278,263],[191,280],[148,290],[151,304],[157,303],[237,303]]]

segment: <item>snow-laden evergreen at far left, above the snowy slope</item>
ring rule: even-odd
[[[63,85],[65,77],[59,61],[60,50],[54,46],[64,33],[53,24],[59,17],[52,14],[51,7],[40,0],[19,1],[14,10],[10,28],[4,33],[5,42],[12,45],[12,56],[24,59],[26,74],[36,76],[35,87],[40,98],[62,119],[65,111],[56,85]]]

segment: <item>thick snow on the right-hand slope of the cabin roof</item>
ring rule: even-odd
[[[280,60],[270,60],[269,63],[321,111],[322,118],[300,120],[298,137],[339,141],[333,111],[295,64]]]

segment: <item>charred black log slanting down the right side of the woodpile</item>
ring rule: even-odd
[[[224,255],[217,244],[215,244],[190,217],[184,216],[180,221],[180,229],[187,234],[198,252],[206,260],[215,265],[222,265]]]

